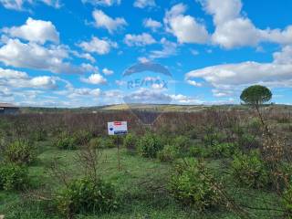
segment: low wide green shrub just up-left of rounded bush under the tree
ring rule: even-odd
[[[217,158],[231,157],[238,152],[236,143],[218,143],[212,147],[212,155]]]

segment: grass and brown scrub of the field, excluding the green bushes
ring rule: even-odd
[[[277,107],[266,110],[264,115],[273,133],[286,141],[282,145],[285,156],[279,162],[286,162],[291,166],[291,161],[287,160],[287,157],[290,156],[292,146],[292,114],[285,107],[280,109]],[[87,173],[79,160],[81,145],[75,145],[76,150],[59,149],[56,146],[56,140],[62,136],[62,133],[68,133],[68,137],[72,138],[80,134],[78,131],[86,130],[86,133],[90,133],[91,140],[113,141],[107,137],[105,125],[106,121],[111,119],[128,120],[130,133],[136,133],[137,141],[141,141],[147,129],[150,128],[142,126],[134,115],[124,110],[120,110],[119,113],[104,113],[103,111],[96,114],[29,113],[1,117],[0,134],[4,137],[0,139],[0,146],[2,146],[0,149],[5,151],[5,147],[17,139],[29,139],[36,146],[37,157],[35,162],[28,165],[30,183],[25,190],[1,191],[0,189],[0,215],[5,215],[5,219],[64,218],[57,212],[57,203],[54,199],[56,192],[66,186],[64,179],[72,181],[84,177]],[[224,155],[226,152],[224,150],[228,150],[224,148],[223,151],[214,153],[213,147],[228,146],[226,142],[232,145],[234,143],[238,146],[237,150],[245,154],[249,154],[251,150],[259,150],[263,147],[265,140],[260,126],[255,114],[239,109],[199,110],[192,113],[171,110],[164,113],[151,126],[151,131],[167,142],[163,147],[167,144],[181,147],[175,143],[180,137],[189,140],[187,151],[176,156],[172,162],[162,162],[158,156],[146,158],[138,151],[130,154],[129,149],[121,147],[119,170],[117,148],[102,147],[98,150],[100,157],[97,173],[102,180],[114,185],[119,201],[118,208],[104,214],[77,214],[74,218],[289,218],[282,199],[284,187],[278,193],[271,187],[253,188],[253,186],[238,184],[231,174],[231,163],[234,162],[235,151],[228,151],[228,155]],[[46,133],[43,140],[38,138],[40,133]],[[210,144],[208,138],[215,138],[215,143],[211,142],[212,145],[207,146]],[[220,140],[221,138],[223,139]],[[203,153],[194,155],[191,152],[193,147],[202,148]],[[210,153],[207,149],[212,152]],[[1,150],[1,154],[4,154]],[[200,212],[195,205],[181,203],[173,197],[169,182],[174,167],[177,162],[190,160],[203,162],[215,181],[222,183],[224,196],[228,198],[225,203]],[[1,165],[2,163],[5,162],[1,162]],[[64,175],[57,175],[52,171],[54,170],[52,166],[56,163],[59,168],[58,173],[64,173]],[[255,169],[258,168],[256,165],[258,163],[255,162]],[[255,174],[252,172],[251,176],[257,180],[256,174],[255,170]]]

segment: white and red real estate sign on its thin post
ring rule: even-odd
[[[128,133],[127,121],[110,121],[108,122],[109,135],[117,136],[117,148],[118,148],[118,169],[120,171],[120,135]]]

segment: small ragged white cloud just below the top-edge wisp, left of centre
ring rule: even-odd
[[[92,16],[95,20],[95,26],[98,28],[106,28],[110,34],[113,34],[113,32],[123,26],[127,26],[127,22],[123,17],[111,18],[101,10],[94,10]]]

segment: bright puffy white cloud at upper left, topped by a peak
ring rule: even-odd
[[[34,20],[28,17],[23,26],[5,27],[2,29],[9,36],[19,37],[31,42],[44,44],[47,41],[58,43],[59,34],[50,21]]]

